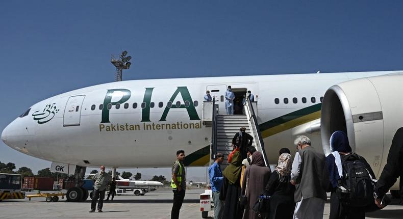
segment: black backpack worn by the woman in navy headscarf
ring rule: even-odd
[[[374,183],[365,168],[365,161],[358,154],[341,156],[343,177],[336,190],[340,201],[351,207],[364,207],[372,204]]]

